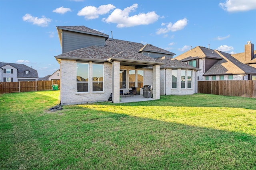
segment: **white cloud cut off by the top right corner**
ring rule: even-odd
[[[256,9],[256,0],[226,0],[220,7],[228,12],[241,12]]]

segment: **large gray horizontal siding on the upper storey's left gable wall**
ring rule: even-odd
[[[105,37],[63,31],[62,33],[62,53],[89,47],[92,45],[104,46]]]

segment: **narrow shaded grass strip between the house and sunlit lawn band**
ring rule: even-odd
[[[96,104],[115,106],[185,106],[185,107],[233,107],[256,110],[256,98],[242,98],[211,94],[193,94],[184,96],[160,96],[159,100],[118,103],[98,102]]]

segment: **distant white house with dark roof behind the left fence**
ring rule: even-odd
[[[19,82],[38,80],[37,70],[24,64],[0,62],[0,81]]]

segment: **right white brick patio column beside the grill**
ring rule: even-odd
[[[153,66],[153,99],[160,99],[160,65]]]

